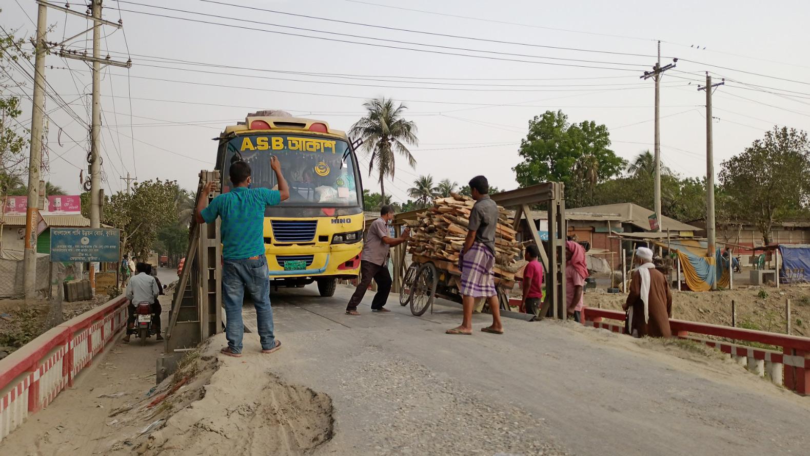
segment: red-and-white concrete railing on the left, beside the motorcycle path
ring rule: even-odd
[[[47,407],[126,327],[119,296],[40,335],[0,359],[0,441]]]

